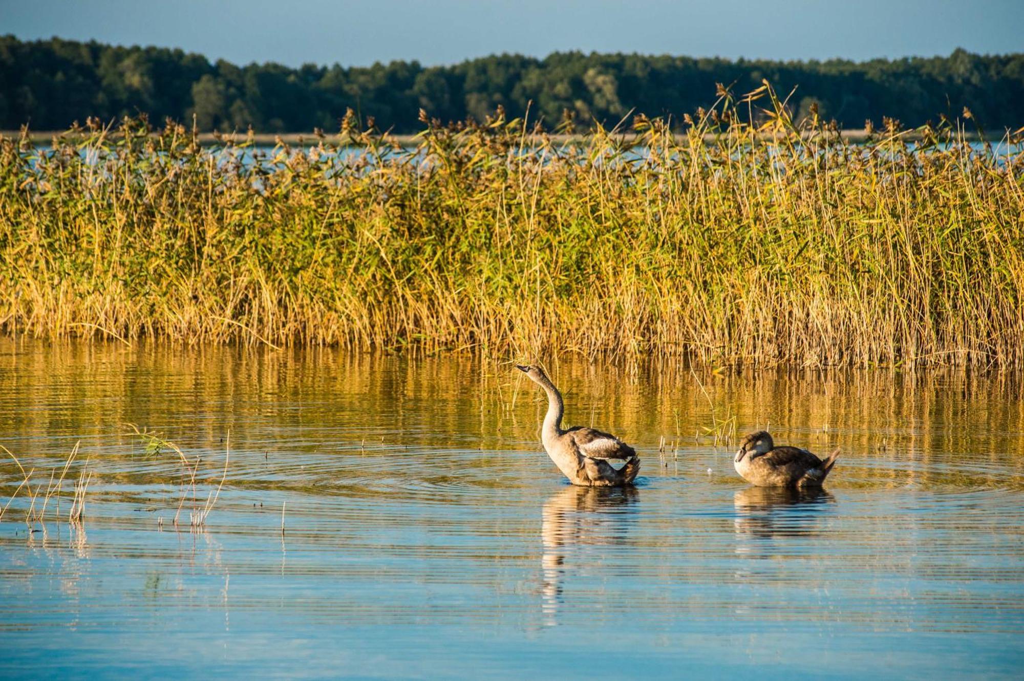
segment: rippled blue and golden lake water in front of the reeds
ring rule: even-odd
[[[636,488],[567,486],[493,361],[0,339],[33,489],[81,443],[36,532],[24,489],[0,521],[0,676],[1019,678],[1015,376],[549,369]],[[200,457],[200,505],[229,451],[205,527],[129,424]],[[765,425],[843,448],[826,491],[735,475],[713,434]]]

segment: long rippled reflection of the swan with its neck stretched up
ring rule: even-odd
[[[563,585],[573,573],[602,556],[587,553],[600,552],[604,546],[628,543],[629,528],[633,523],[630,506],[639,493],[635,487],[565,487],[549,498],[541,510],[541,542],[543,553],[542,610],[545,624],[553,626],[555,616],[563,604]],[[573,559],[566,561],[572,554]]]

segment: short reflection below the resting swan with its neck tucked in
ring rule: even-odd
[[[836,498],[820,487],[748,487],[732,498],[736,510],[733,525],[737,537],[780,539],[821,534],[823,513]],[[749,547],[737,546],[746,552]]]

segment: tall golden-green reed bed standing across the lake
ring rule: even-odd
[[[852,144],[813,112],[795,123],[768,84],[721,90],[682,132],[635,117],[627,139],[597,127],[560,143],[501,111],[422,119],[415,148],[353,116],[307,148],[203,147],[144,118],[48,149],[3,139],[0,324],[124,343],[1024,366],[1021,131],[981,146],[945,120],[889,121]]]

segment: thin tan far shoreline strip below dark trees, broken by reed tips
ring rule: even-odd
[[[20,131],[17,131],[17,130],[0,130],[0,139],[17,138],[17,137],[20,136],[20,134],[22,134]],[[677,134],[679,136],[683,136],[685,133],[680,132],[680,133],[677,133]],[[984,139],[988,140],[989,142],[995,143],[995,142],[999,142],[1000,140],[1004,140],[1006,138],[1007,134],[1008,134],[1008,131],[1007,130],[988,130],[988,131],[985,131],[983,134],[984,134]],[[816,133],[816,132],[815,133],[810,133],[810,132],[808,132],[805,135],[803,135],[803,138],[804,139],[811,139],[812,137],[819,136],[819,135],[820,135],[820,133]],[[842,130],[842,131],[839,132],[839,135],[840,135],[840,137],[842,139],[844,139],[844,140],[846,140],[848,142],[853,142],[853,143],[865,142],[868,139],[867,131],[865,129],[863,129],[863,128],[859,128],[859,129],[855,128],[855,129],[849,129],[849,130]],[[882,136],[882,133],[879,132],[879,131],[876,131],[873,133],[873,135],[874,135],[874,138],[878,139],[879,137]],[[29,132],[29,139],[32,140],[32,142],[34,144],[36,144],[36,145],[39,145],[39,144],[49,144],[53,140],[54,137],[60,138],[60,137],[70,137],[70,136],[71,136],[71,134],[68,131],[38,131],[38,132],[37,131],[30,131]],[[156,136],[156,133],[154,133],[154,136]],[[112,137],[117,138],[118,134],[117,133],[112,133]],[[240,144],[240,143],[245,142],[246,139],[247,139],[247,137],[248,137],[248,135],[246,133],[239,133],[239,132],[233,132],[233,133],[214,133],[214,132],[209,132],[209,133],[200,133],[199,134],[199,141],[200,141],[200,144],[203,144],[205,146],[212,146],[214,144],[219,143],[219,141],[225,140],[225,139],[228,140],[228,141],[230,141],[233,144]],[[421,139],[419,137],[419,135],[408,135],[408,134],[403,134],[403,135],[389,135],[388,137],[390,139],[395,140],[396,142],[398,142],[402,146],[416,146],[417,144],[419,144],[420,139]],[[591,134],[549,135],[548,137],[549,137],[549,139],[551,139],[551,140],[553,140],[553,141],[555,141],[555,142],[557,142],[559,144],[565,144],[565,143],[586,141],[587,139],[591,138],[592,135]],[[632,141],[632,142],[638,144],[641,141],[641,137],[639,135],[634,134],[634,133],[625,133],[625,134],[612,135],[611,137],[613,139],[620,141],[620,142],[630,142],[630,141]],[[708,135],[705,135],[703,137],[705,137],[705,141],[706,142],[713,142],[715,140],[715,135],[708,134]],[[765,133],[765,134],[760,135],[760,137],[762,139],[771,139],[772,135],[768,134],[768,133]],[[218,138],[219,138],[219,140],[218,140]],[[537,138],[537,136],[536,135],[531,135],[531,134],[525,136],[525,139],[527,139],[527,140],[534,140],[535,138]],[[904,141],[919,141],[919,140],[922,139],[922,134],[919,133],[916,130],[907,130],[907,131],[904,131],[900,135],[900,138],[903,139]],[[324,135],[322,137],[317,137],[314,133],[311,133],[311,132],[309,132],[309,133],[299,133],[299,132],[291,132],[291,133],[255,133],[255,134],[253,134],[252,139],[253,139],[253,143],[255,143],[258,146],[272,146],[272,145],[276,144],[279,140],[281,140],[285,144],[288,144],[288,145],[291,145],[291,146],[313,146],[321,139],[324,139],[325,141],[332,142],[332,143],[339,143],[341,141],[339,135],[337,135],[337,134],[335,134],[335,135]],[[968,130],[963,131],[962,133],[957,134],[957,139],[965,139],[965,140],[970,141],[970,142],[982,141],[982,137],[981,137],[981,135],[977,131],[968,131]],[[358,146],[358,144],[346,143],[345,146]]]

